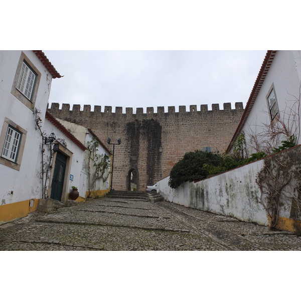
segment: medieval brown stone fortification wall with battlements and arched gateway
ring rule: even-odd
[[[115,190],[129,190],[130,178],[135,183],[137,190],[145,191],[146,185],[152,185],[160,180],[160,153],[159,147],[163,146],[162,174],[163,178],[169,176],[173,166],[187,152],[203,147],[211,147],[211,151],[224,152],[243,113],[241,102],[235,103],[235,109],[231,109],[231,103],[224,103],[223,110],[219,104],[213,104],[212,110],[207,105],[191,105],[190,111],[186,106],[179,106],[179,112],[174,106],[158,107],[154,113],[153,107],[137,108],[133,114],[132,108],[126,108],[122,113],[122,107],[116,107],[115,113],[111,106],[105,106],[101,112],[101,106],[63,104],[59,109],[58,103],[52,103],[48,111],[57,118],[74,122],[88,128],[106,144],[108,137],[112,143],[117,143],[121,138],[121,144],[115,145],[113,188]],[[106,144],[109,149],[112,145]]]

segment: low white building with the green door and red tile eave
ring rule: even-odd
[[[86,199],[86,185],[85,181],[81,179],[81,172],[87,148],[48,112],[46,112],[43,129],[46,137],[53,133],[55,140],[49,146],[43,144],[43,189],[45,192],[42,194],[42,198],[50,198],[65,203],[69,199],[72,186],[74,186],[78,188],[79,192],[77,201],[84,201]],[[58,145],[57,152],[52,150],[54,144]],[[41,173],[41,158],[40,156],[40,160],[37,162],[37,173]],[[48,166],[50,168],[47,171]]]

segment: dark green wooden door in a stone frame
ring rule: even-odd
[[[61,201],[67,157],[58,152],[55,160],[54,173],[51,185],[51,199]]]

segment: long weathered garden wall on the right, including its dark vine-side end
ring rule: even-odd
[[[177,189],[169,187],[170,177],[167,177],[158,182],[158,193],[171,203],[270,226],[263,206],[267,205],[268,198],[266,194],[261,195],[256,184],[260,173],[264,181],[272,179],[268,181],[271,186],[279,188],[286,183],[278,194],[276,228],[301,235],[300,169],[301,145],[298,145],[203,181],[186,182]]]

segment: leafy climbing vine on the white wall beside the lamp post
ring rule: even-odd
[[[107,154],[97,154],[98,147],[99,142],[95,137],[91,141],[88,141],[88,197],[91,196],[92,190],[95,190],[96,181],[102,179],[103,182],[106,182],[110,174],[108,172],[110,157]]]

